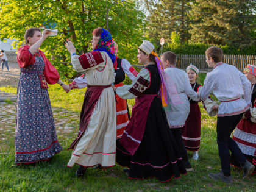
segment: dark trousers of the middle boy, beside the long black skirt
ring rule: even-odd
[[[172,131],[172,134],[173,134],[174,139],[176,141],[176,144],[179,148],[180,155],[182,156],[183,162],[186,164],[186,163],[188,163],[188,153],[187,153],[187,149],[185,147],[185,144],[183,142],[182,135],[181,135],[182,134],[182,127],[181,128],[175,128],[175,129],[171,128],[171,131]]]

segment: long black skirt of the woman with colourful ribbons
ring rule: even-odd
[[[117,143],[116,162],[130,168],[130,179],[156,177],[168,182],[173,176],[179,178],[180,174],[187,173],[160,98],[152,101],[143,139],[135,154],[130,155]]]

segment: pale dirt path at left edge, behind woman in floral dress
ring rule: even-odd
[[[2,71],[0,66],[0,87],[1,86],[12,86],[17,87],[19,77],[20,77],[20,68],[18,63],[8,63],[9,71],[4,66],[4,70]]]

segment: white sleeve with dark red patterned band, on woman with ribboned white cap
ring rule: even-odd
[[[116,88],[116,94],[123,99],[137,98],[149,87],[151,82],[150,73],[148,69],[141,69],[137,77],[130,85],[123,85]]]

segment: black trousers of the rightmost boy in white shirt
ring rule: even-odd
[[[221,169],[225,176],[230,176],[229,150],[232,152],[241,166],[244,166],[244,163],[246,162],[246,157],[244,157],[241,149],[230,137],[242,116],[243,113],[217,118],[217,143],[219,149],[219,157],[221,158]]]

